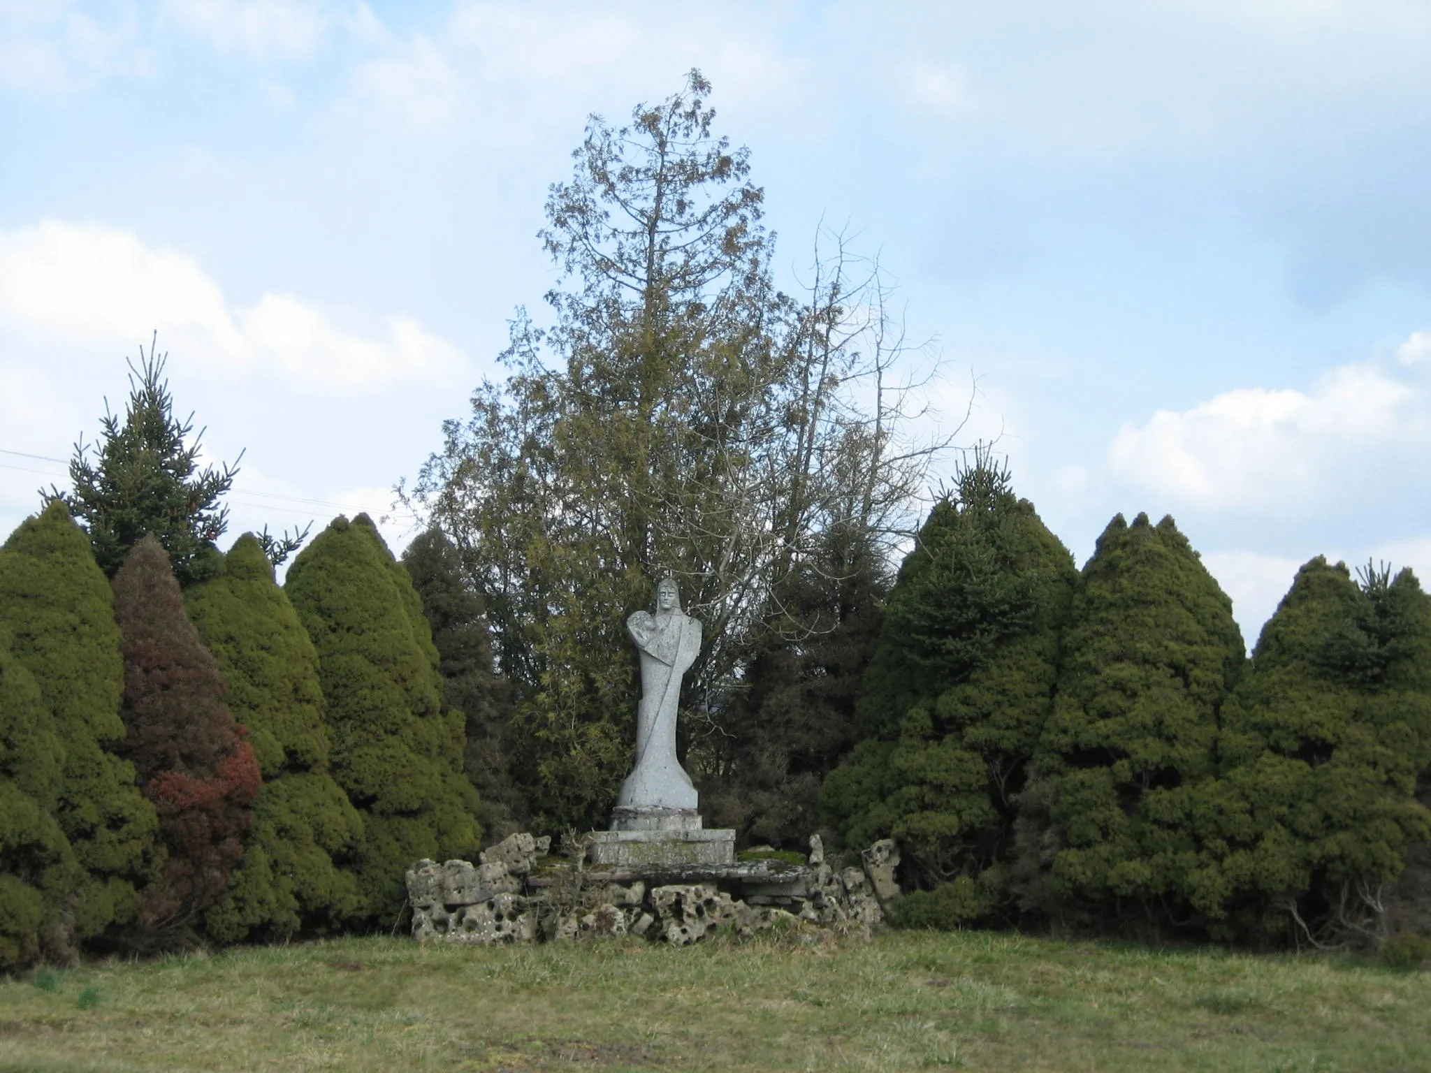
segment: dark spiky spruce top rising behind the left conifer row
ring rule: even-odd
[[[119,416],[100,418],[99,458],[82,444],[70,459],[73,491],[54,494],[83,521],[94,558],[113,577],[140,536],[152,534],[169,552],[175,575],[187,585],[215,567],[213,542],[228,526],[229,508],[219,505],[238,468],[199,469],[199,439],[186,442],[193,422],[173,415],[173,396],[162,379],[169,355],[139,352],[130,365],[129,405]],[[200,433],[202,435],[202,433]]]

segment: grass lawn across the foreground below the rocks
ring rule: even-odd
[[[1431,973],[993,933],[348,939],[0,979],[3,1070],[1431,1070]]]

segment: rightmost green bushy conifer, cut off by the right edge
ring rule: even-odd
[[[1224,717],[1192,807],[1215,934],[1371,941],[1431,810],[1431,601],[1410,571],[1304,565]]]

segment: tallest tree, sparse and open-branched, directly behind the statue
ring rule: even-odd
[[[518,313],[512,375],[445,423],[415,489],[484,595],[517,688],[514,768],[548,828],[604,824],[628,770],[621,624],[655,577],[705,621],[690,721],[823,529],[887,525],[920,484],[924,455],[893,449],[899,336],[863,316],[884,292],[861,293],[840,256],[810,300],[774,289],[764,195],[748,152],[713,133],[708,93],[691,72],[627,126],[591,117],[547,200],[541,237],[570,282],[547,296],[552,323]]]

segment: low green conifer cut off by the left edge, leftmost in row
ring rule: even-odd
[[[63,767],[54,720],[0,624],[0,971],[76,954],[83,873],[52,815]]]

